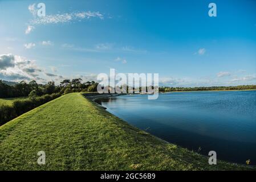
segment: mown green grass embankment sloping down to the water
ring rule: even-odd
[[[37,164],[38,151],[46,164]],[[48,102],[0,127],[1,170],[255,169],[208,158],[153,137],[80,93]]]

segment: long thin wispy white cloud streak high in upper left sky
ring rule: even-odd
[[[99,18],[104,19],[104,16],[97,12],[83,11],[80,13],[64,13],[55,15],[46,15],[43,17],[30,20],[31,24],[48,24],[48,23],[67,23],[81,21],[83,19]]]

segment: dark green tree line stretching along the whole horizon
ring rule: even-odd
[[[55,85],[54,81],[47,84],[38,84],[35,80],[27,83],[21,81],[15,85],[7,85],[0,80],[0,98],[8,97],[26,97],[34,99],[45,94],[60,93],[67,94],[71,92],[96,92],[98,83],[95,81],[82,82],[81,78],[72,80],[63,80],[59,85]],[[114,89],[109,87],[110,90]],[[121,87],[120,87],[121,89]],[[147,89],[147,88],[146,88]],[[207,91],[207,90],[249,90],[256,89],[256,85],[239,85],[239,86],[200,86],[200,87],[159,87],[159,92],[175,92],[175,91]],[[128,90],[128,86],[127,86]],[[135,88],[133,88],[135,90]],[[139,88],[141,91],[141,87]]]

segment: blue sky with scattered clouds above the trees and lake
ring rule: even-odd
[[[253,0],[0,1],[0,79],[86,82],[115,68],[165,86],[255,84],[255,12]]]

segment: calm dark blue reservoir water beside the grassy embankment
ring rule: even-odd
[[[97,101],[133,126],[217,159],[256,164],[256,91],[127,95]]]

